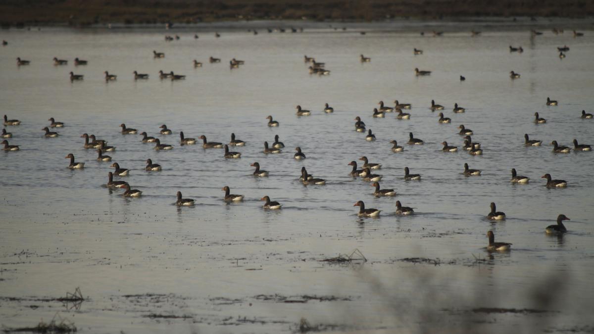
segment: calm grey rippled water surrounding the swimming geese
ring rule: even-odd
[[[335,332],[591,329],[594,159],[591,152],[554,154],[548,143],[594,143],[594,121],[579,117],[594,103],[593,31],[574,39],[568,29],[532,38],[520,26],[478,37],[470,28],[443,37],[419,36],[416,27],[388,30],[254,36],[230,29],[219,39],[201,32],[198,40],[190,30],[2,31],[10,43],[0,53],[2,109],[23,123],[7,127],[21,151],[0,154],[0,322],[34,326],[59,312],[92,333],[289,332],[301,317]],[[174,33],[181,40],[163,40]],[[510,53],[509,45],[525,52]],[[556,47],[563,45],[571,50],[560,59]],[[153,59],[153,50],[166,57]],[[371,62],[361,64],[361,53]],[[331,75],[309,75],[304,54],[326,62]],[[17,56],[31,65],[17,67]],[[54,56],[69,64],[53,66]],[[209,56],[222,63],[208,64]],[[89,65],[74,67],[75,57]],[[231,58],[246,64],[229,70]],[[192,59],[203,67],[194,69]],[[415,67],[433,73],[415,77]],[[105,83],[106,70],[118,80]],[[149,80],[134,81],[134,70]],[[187,78],[159,80],[159,70]],[[522,77],[510,80],[511,70]],[[71,83],[69,71],[84,81]],[[545,106],[548,96],[560,105]],[[371,118],[380,100],[391,106],[395,99],[412,103],[409,121]],[[452,124],[438,124],[431,99]],[[334,114],[322,112],[324,103]],[[454,103],[466,113],[453,114]],[[312,115],[298,118],[298,104]],[[548,122],[534,124],[534,112]],[[280,127],[268,128],[267,115]],[[59,138],[43,138],[52,116],[67,126],[55,130]],[[355,116],[377,141],[354,131]],[[122,122],[175,149],[156,152],[138,135],[122,136]],[[159,136],[162,124],[172,136]],[[462,146],[460,124],[475,131],[483,156],[441,152],[444,140]],[[241,159],[224,159],[220,149],[179,146],[179,131],[223,143],[233,132],[248,144],[231,147]],[[410,131],[426,144],[406,145]],[[111,163],[83,148],[83,133],[117,147],[106,154],[131,169],[121,179],[143,197],[122,198],[121,190],[102,186]],[[525,133],[543,146],[523,146]],[[264,155],[264,141],[275,134],[286,148]],[[394,139],[405,152],[391,152]],[[292,159],[296,146],[307,159]],[[67,169],[68,153],[85,168]],[[383,164],[375,172],[395,198],[374,198],[368,182],[349,177],[347,163],[360,165],[363,155]],[[163,171],[144,171],[148,158]],[[256,161],[270,177],[252,177]],[[465,162],[482,176],[464,177]],[[302,166],[327,184],[302,185]],[[422,181],[404,181],[405,166]],[[511,168],[530,183],[510,184]],[[545,173],[568,187],[548,190]],[[223,202],[225,185],[245,200]],[[178,190],[196,206],[173,205]],[[264,211],[265,195],[283,209]],[[381,218],[358,218],[358,200],[383,210]],[[416,214],[396,216],[396,200]],[[491,201],[507,214],[504,222],[486,220]],[[560,213],[571,219],[569,232],[547,237],[544,228]],[[496,241],[513,243],[510,253],[486,253],[489,229]],[[355,249],[365,264],[319,261]],[[412,257],[440,265],[402,261]],[[87,298],[78,309],[40,301],[77,286]],[[341,300],[286,303],[304,295]],[[552,312],[473,313],[477,307]]]

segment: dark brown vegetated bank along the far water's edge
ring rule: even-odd
[[[3,27],[233,20],[377,21],[389,18],[594,15],[592,0],[2,0]]]

